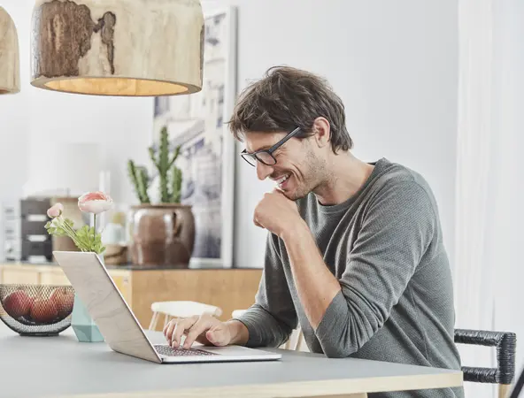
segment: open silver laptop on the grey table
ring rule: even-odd
[[[167,342],[152,344],[96,253],[53,251],[53,255],[113,351],[158,364],[281,359],[281,354],[242,346],[198,344],[185,349],[171,348]]]

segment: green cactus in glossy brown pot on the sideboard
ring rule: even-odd
[[[181,204],[182,172],[174,164],[181,147],[170,150],[167,128],[160,133],[158,155],[150,160],[158,171],[159,203],[151,203],[152,178],[146,167],[127,161],[127,172],[140,202],[131,207],[131,261],[137,265],[187,268],[195,244],[195,218],[190,205]]]

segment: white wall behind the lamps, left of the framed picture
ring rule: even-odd
[[[22,187],[45,167],[40,158],[54,142],[97,142],[101,165],[111,172],[111,194],[118,203],[136,203],[127,178],[127,159],[148,162],[153,100],[77,96],[34,88],[30,78],[32,0],[4,0],[18,28],[21,92],[0,96],[0,201],[19,198]],[[50,176],[50,178],[52,178]]]

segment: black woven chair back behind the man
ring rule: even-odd
[[[506,398],[515,377],[516,334],[456,329],[455,342],[497,348],[497,368],[463,366],[462,371],[464,381],[498,384],[498,398]]]

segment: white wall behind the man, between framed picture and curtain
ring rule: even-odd
[[[355,154],[366,161],[388,157],[428,179],[452,261],[456,2],[203,2],[204,7],[215,4],[238,6],[239,89],[276,64],[326,76],[345,102]],[[252,225],[252,213],[273,184],[258,182],[238,161],[236,179],[235,264],[261,266],[266,233]]]

